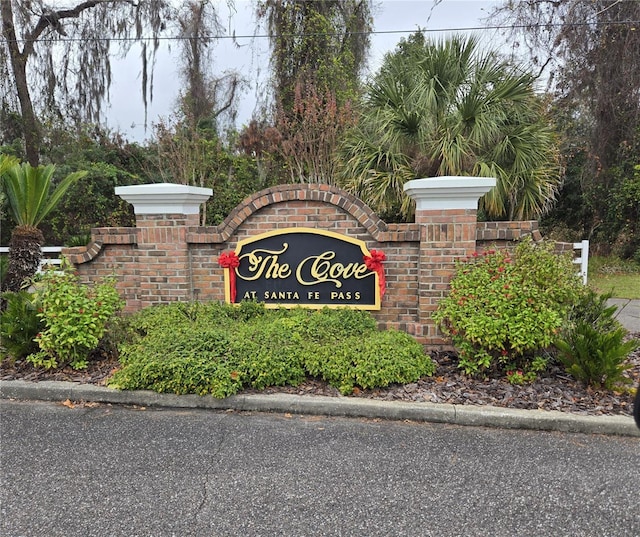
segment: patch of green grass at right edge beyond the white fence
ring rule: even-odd
[[[589,259],[589,286],[614,298],[640,299],[640,264],[613,257]]]

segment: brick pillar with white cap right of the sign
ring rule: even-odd
[[[418,308],[429,346],[448,343],[431,315],[448,292],[455,261],[476,249],[478,200],[495,184],[487,177],[433,177],[405,184],[405,192],[416,201],[420,226]]]

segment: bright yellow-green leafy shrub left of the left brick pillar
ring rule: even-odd
[[[44,329],[36,336],[40,352],[27,360],[46,368],[65,363],[74,369],[85,368],[89,353],[124,305],[115,280],[105,279],[90,289],[69,270],[50,270],[42,275],[37,288],[41,302],[38,315]]]

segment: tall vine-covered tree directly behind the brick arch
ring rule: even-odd
[[[258,6],[271,36],[278,155],[290,180],[331,183],[336,143],[359,95],[371,2],[263,0]]]

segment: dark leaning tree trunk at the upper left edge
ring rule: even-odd
[[[20,52],[15,27],[13,25],[13,10],[11,1],[3,0],[1,3],[0,16],[2,17],[2,33],[9,49],[11,69],[16,93],[20,101],[20,111],[22,113],[22,129],[24,133],[25,152],[27,160],[32,166],[37,166],[40,162],[40,128],[36,116],[33,112],[33,103],[29,93],[27,82],[27,59],[28,55]]]

